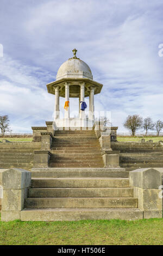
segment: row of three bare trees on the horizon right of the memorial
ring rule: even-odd
[[[149,130],[156,130],[157,136],[159,136],[160,131],[163,129],[163,121],[159,119],[154,123],[151,117],[143,119],[140,115],[135,114],[128,115],[123,126],[129,130],[133,136],[135,136],[135,132],[140,129],[145,130],[146,135]]]

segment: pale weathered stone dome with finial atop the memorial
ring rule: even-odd
[[[66,60],[64,62],[58,72],[56,79],[62,78],[90,78],[93,79],[91,69],[89,66],[83,62],[83,60],[76,57],[77,50],[72,50],[74,57]]]

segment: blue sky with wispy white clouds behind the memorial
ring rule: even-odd
[[[1,0],[0,5],[0,115],[9,115],[12,132],[30,133],[31,126],[53,120],[54,95],[46,84],[55,81],[73,48],[93,80],[103,84],[95,111],[110,111],[118,132],[127,131],[123,122],[129,114],[163,120],[162,0]],[[78,99],[71,98],[74,109]]]

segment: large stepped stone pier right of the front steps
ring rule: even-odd
[[[143,168],[129,172],[130,187],[138,198],[143,218],[162,218],[161,168]]]

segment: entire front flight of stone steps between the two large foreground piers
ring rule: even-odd
[[[33,168],[22,221],[143,218],[123,168]]]

